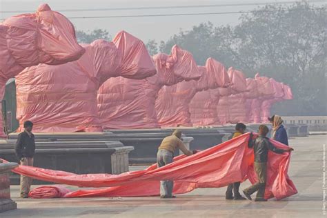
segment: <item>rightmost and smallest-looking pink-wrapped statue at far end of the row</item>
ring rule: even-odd
[[[268,117],[270,117],[270,109],[274,103],[293,99],[292,90],[289,86],[284,85],[284,83],[279,83],[272,78],[270,81],[273,84],[275,94],[271,99],[264,99],[264,101],[261,103],[261,121],[263,122],[268,122]]]

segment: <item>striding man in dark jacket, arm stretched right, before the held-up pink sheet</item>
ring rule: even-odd
[[[269,129],[265,125],[259,126],[259,137],[257,139],[252,139],[252,133],[250,135],[250,139],[248,141],[248,148],[253,148],[255,152],[255,173],[258,177],[258,182],[253,184],[252,186],[243,190],[244,195],[251,199],[251,195],[257,191],[257,197],[255,201],[267,201],[264,198],[264,192],[266,188],[266,173],[267,173],[267,161],[268,161],[268,150],[271,150],[277,154],[281,154],[283,152],[290,152],[293,148],[288,149],[280,149],[273,146],[270,143],[269,139],[266,137]]]

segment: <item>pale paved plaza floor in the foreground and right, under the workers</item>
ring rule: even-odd
[[[19,186],[12,186],[12,199],[18,209],[3,212],[0,217],[326,217],[323,200],[326,141],[327,135],[290,139],[295,151],[288,174],[299,193],[281,201],[228,201],[224,198],[226,188],[198,189],[177,199],[20,199]],[[241,188],[248,185],[246,181]]]

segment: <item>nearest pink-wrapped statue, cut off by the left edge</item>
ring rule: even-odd
[[[33,14],[10,17],[0,23],[0,99],[6,81],[26,67],[39,63],[58,65],[79,59],[84,49],[75,39],[72,23],[47,4]],[[1,104],[0,104],[1,111]],[[0,116],[0,137],[3,121]]]

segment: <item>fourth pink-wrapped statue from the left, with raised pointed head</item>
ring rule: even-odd
[[[226,70],[215,59],[209,58],[206,67],[199,66],[199,70],[202,73],[199,81],[182,81],[161,88],[156,101],[160,126],[192,126],[189,103],[197,92],[229,85]],[[196,112],[200,111],[195,108]]]

